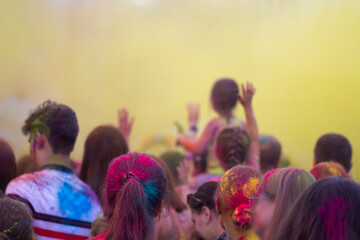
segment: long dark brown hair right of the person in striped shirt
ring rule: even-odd
[[[90,185],[99,199],[109,163],[128,151],[125,138],[115,127],[99,126],[86,138],[79,178]]]

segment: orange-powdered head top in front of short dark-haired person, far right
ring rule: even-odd
[[[349,178],[344,168],[336,162],[321,162],[316,164],[315,167],[310,170],[310,173],[316,180],[330,176]]]

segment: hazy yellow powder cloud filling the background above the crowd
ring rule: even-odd
[[[293,165],[309,170],[317,138],[337,132],[360,180],[358,0],[0,1],[0,136],[17,156],[29,109],[46,99],[76,111],[81,160],[86,136],[120,107],[136,118],[133,150],[175,136],[187,100],[200,102],[203,129],[223,76],[254,82],[260,131]]]

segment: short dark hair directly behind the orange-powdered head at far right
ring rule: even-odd
[[[340,134],[329,133],[321,136],[315,145],[315,163],[338,162],[349,172],[352,163],[352,148],[349,140]]]

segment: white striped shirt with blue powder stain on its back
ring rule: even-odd
[[[12,180],[5,192],[32,212],[38,240],[87,239],[102,215],[96,194],[70,168],[46,165]]]

